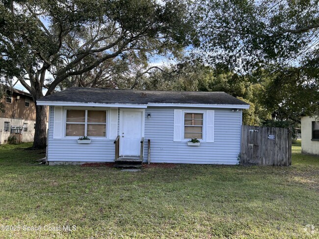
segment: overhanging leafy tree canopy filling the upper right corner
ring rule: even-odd
[[[318,0],[202,0],[198,9],[207,63],[245,71],[318,64]]]

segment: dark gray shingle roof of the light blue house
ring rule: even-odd
[[[106,88],[72,87],[38,101],[83,102],[105,104],[228,104],[248,105],[225,92],[137,91]]]

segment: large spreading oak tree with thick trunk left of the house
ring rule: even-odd
[[[102,64],[177,53],[190,42],[187,10],[183,0],[2,0],[0,75],[36,102]],[[33,147],[46,145],[46,121],[37,105]]]

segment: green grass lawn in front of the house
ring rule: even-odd
[[[0,146],[0,238],[319,238],[319,157],[300,142],[291,167],[139,172],[32,165],[44,154],[29,146]]]

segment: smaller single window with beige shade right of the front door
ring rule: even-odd
[[[185,113],[184,115],[184,138],[203,139],[203,114]]]

